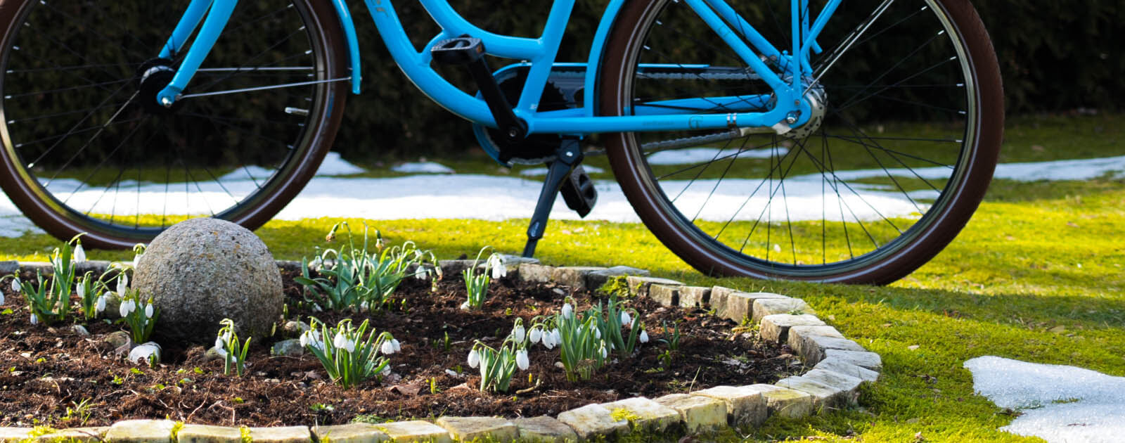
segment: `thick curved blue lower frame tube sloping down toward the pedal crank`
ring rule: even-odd
[[[414,49],[389,0],[366,0],[364,3],[371,11],[375,27],[379,29],[382,43],[387,45],[387,51],[398,64],[398,69],[403,70],[406,78],[422,93],[458,117],[496,127],[496,120],[493,119],[484,100],[457,89],[430,67],[429,47],[423,48],[421,53]]]

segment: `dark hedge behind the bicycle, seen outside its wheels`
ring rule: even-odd
[[[469,125],[422,96],[394,66],[360,1],[352,0],[362,40],[363,94],[349,97],[336,150],[352,157],[411,157],[472,148]],[[585,61],[605,0],[575,7],[559,61]],[[974,6],[992,35],[1009,115],[1078,107],[1119,110],[1125,98],[1125,2],[1120,0],[980,0]],[[549,1],[459,1],[482,27],[537,35]],[[847,8],[845,2],[842,9]],[[421,7],[398,2],[408,34],[421,46],[436,28]],[[494,66],[496,67],[496,66]],[[448,70],[447,70],[448,71]],[[452,73],[460,83],[464,76]]]

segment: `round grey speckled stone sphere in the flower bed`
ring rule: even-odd
[[[281,273],[249,229],[215,218],[192,218],[148,244],[132,288],[152,297],[160,318],[153,334],[214,343],[219,320],[234,320],[240,338],[264,338],[281,316]]]

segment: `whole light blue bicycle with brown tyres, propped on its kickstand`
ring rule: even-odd
[[[765,279],[908,274],[968,223],[997,162],[999,69],[966,0],[609,0],[585,63],[555,60],[574,0],[551,4],[538,38],[421,0],[442,29],[421,51],[390,0],[364,2],[403,72],[486,152],[549,164],[525,255],[560,190],[583,215],[596,201],[580,166],[595,134],[669,250]],[[0,186],[52,235],[132,246],[197,215],[256,228],[360,92],[343,0],[172,3],[0,2]]]

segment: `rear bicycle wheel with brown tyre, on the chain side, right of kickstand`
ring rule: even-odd
[[[789,0],[731,3],[780,49],[792,47]],[[802,15],[814,19],[822,4],[810,1]],[[945,247],[983,198],[1004,102],[991,42],[968,1],[849,1],[819,43],[810,93],[822,114],[804,127],[608,136],[641,220],[698,270],[889,283]],[[702,98],[720,114],[731,100],[773,106],[764,82],[683,1],[628,2],[598,84],[606,116],[688,112],[675,109],[680,99]]]

